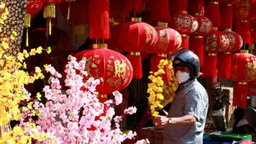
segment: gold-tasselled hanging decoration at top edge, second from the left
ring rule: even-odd
[[[52,34],[51,18],[55,18],[56,7],[55,4],[60,3],[61,0],[44,0],[44,18],[46,18],[46,37]]]

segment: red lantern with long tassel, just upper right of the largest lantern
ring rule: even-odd
[[[120,49],[130,52],[126,57],[130,60],[134,69],[133,78],[142,78],[142,65],[140,52],[148,50],[157,41],[156,30],[141,22],[141,18],[132,18],[132,22],[126,22],[120,31],[118,44]]]

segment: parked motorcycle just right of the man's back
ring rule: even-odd
[[[216,128],[216,130],[221,132],[227,131],[224,101],[230,105],[228,96],[223,92],[222,86],[220,86],[212,94],[212,101],[208,106],[206,117],[206,128]]]

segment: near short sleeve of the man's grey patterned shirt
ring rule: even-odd
[[[189,92],[185,97],[185,115],[191,114],[199,121],[206,105],[207,103],[202,98],[200,92]]]

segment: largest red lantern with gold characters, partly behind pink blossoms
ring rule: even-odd
[[[133,74],[129,60],[114,50],[106,49],[106,44],[94,44],[93,46],[105,48],[85,50],[75,54],[74,57],[78,61],[83,57],[86,59],[87,78],[103,78],[103,82],[96,87],[99,95],[111,94],[116,90],[126,88]]]

